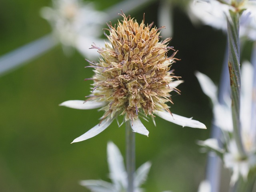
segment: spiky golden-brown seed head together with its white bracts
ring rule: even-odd
[[[98,49],[99,62],[90,62],[94,68],[93,90],[86,102],[66,101],[60,104],[77,109],[100,108],[105,113],[99,125],[76,138],[73,142],[86,140],[106,129],[119,115],[130,121],[132,130],[148,136],[148,130],[139,117],[154,114],[181,126],[206,128],[191,118],[172,114],[167,102],[172,103],[170,92],[182,81],[170,70],[176,51],[168,46],[170,38],[159,41],[160,28],[145,25],[122,14],[124,20],[115,28],[109,24],[110,35],[104,48]],[[173,50],[168,57],[168,50]],[[123,121],[123,122],[124,122]]]

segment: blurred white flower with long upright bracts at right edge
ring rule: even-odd
[[[255,90],[253,85],[253,67],[249,62],[242,64],[242,84],[241,84],[241,137],[246,151],[246,157],[241,157],[238,153],[236,142],[232,136],[232,112],[231,99],[226,97],[224,104],[217,100],[217,88],[206,75],[197,72],[196,77],[200,82],[202,90],[209,96],[213,103],[214,124],[218,126],[224,135],[224,147],[220,148],[216,139],[201,141],[200,145],[211,148],[222,158],[224,165],[232,171],[231,184],[234,184],[239,176],[247,178],[250,169],[256,166],[256,137],[254,118],[255,112],[252,111],[252,102],[255,100]],[[225,147],[226,146],[226,147]]]

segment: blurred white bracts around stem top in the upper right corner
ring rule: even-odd
[[[218,0],[194,0],[188,6],[188,15],[192,22],[202,22],[205,25],[227,30],[226,19],[229,18],[229,10],[236,10],[231,4],[234,1]],[[240,19],[240,37],[256,40],[256,0],[242,0],[236,6],[244,10]]]

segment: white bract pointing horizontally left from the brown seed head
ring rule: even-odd
[[[83,100],[68,100],[59,106],[65,106],[73,109],[96,109],[106,105],[105,102],[95,102],[95,101],[83,101]]]

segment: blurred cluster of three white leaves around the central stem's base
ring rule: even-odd
[[[108,142],[108,168],[112,183],[103,180],[82,180],[80,184],[92,192],[125,192],[127,191],[127,172],[124,159],[118,147],[113,142]],[[146,181],[151,163],[142,164],[135,172],[134,192],[142,192],[140,186]]]

